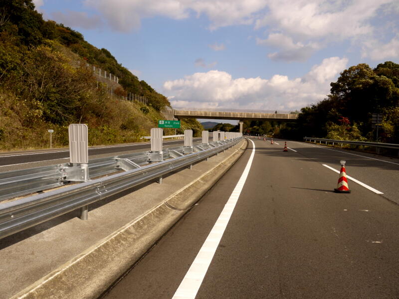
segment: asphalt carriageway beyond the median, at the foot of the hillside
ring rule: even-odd
[[[194,141],[200,141],[200,138],[195,138]],[[163,142],[164,148],[168,147],[177,147],[180,145],[184,145],[184,140],[174,140]],[[89,159],[96,158],[99,156],[112,156],[115,154],[123,154],[126,151],[146,151],[150,150],[150,143],[134,143],[128,145],[115,145],[115,146],[102,146],[102,147],[90,147],[89,148]],[[45,162],[45,161],[54,161],[50,164],[57,163],[65,163],[67,162],[67,158],[69,158],[69,149],[54,149],[54,150],[35,150],[35,151],[26,151],[26,152],[2,152],[0,153],[0,166],[11,166],[11,165],[20,165],[20,164],[29,164],[32,162]],[[65,161],[57,161],[60,159],[65,159]],[[48,164],[48,163],[47,163]],[[34,165],[28,167],[36,167],[41,165]],[[1,171],[8,171],[12,169]]]

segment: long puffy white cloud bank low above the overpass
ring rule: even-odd
[[[283,75],[233,79],[227,72],[211,70],[166,81],[164,91],[173,96],[175,107],[295,110],[324,99],[330,82],[347,62],[346,58],[326,58],[304,77],[294,79]]]

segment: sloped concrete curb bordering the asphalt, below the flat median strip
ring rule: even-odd
[[[199,178],[11,299],[98,298],[218,181],[247,145],[241,142]]]

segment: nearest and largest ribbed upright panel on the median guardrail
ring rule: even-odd
[[[68,127],[69,161],[71,163],[89,162],[87,125],[71,124]]]

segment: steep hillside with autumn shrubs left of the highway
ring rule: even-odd
[[[0,3],[0,150],[46,148],[48,129],[55,147],[66,146],[71,123],[88,125],[90,146],[135,142],[165,119],[168,99],[108,50],[43,20],[32,0]],[[196,120],[183,120],[181,131],[189,128],[202,130]]]

